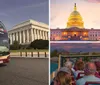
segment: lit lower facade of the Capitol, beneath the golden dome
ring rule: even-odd
[[[78,28],[71,29],[51,29],[51,41],[100,41],[100,29],[84,29]]]

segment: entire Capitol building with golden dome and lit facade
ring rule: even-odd
[[[70,14],[66,28],[64,29],[50,29],[51,41],[98,41],[100,40],[100,29],[85,29],[82,16],[77,11],[76,3],[74,5],[74,11]]]

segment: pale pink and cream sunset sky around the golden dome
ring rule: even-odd
[[[84,27],[100,29],[100,0],[51,0],[50,28],[65,28],[74,3],[81,14]]]

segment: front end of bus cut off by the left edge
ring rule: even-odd
[[[4,24],[0,21],[0,64],[10,60],[9,38]]]

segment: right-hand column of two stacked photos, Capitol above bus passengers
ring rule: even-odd
[[[100,0],[50,8],[50,85],[100,85]]]

